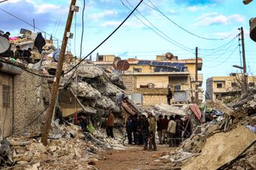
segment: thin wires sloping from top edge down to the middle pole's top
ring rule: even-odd
[[[120,0],[120,2],[122,2],[122,4],[131,11],[131,9],[129,7],[127,7],[122,0]],[[128,2],[128,1],[126,1]],[[130,4],[130,2],[128,2]],[[132,5],[131,5],[132,6]],[[133,7],[133,6],[132,6]],[[136,10],[140,15],[142,15],[138,10]],[[153,32],[155,32],[156,34],[158,34],[158,36],[161,36],[161,38],[167,40],[167,42],[170,42],[171,44],[173,45],[176,45],[176,44],[179,44],[179,45],[176,45],[177,47],[179,48],[182,48],[183,50],[185,51],[189,51],[190,53],[194,54],[192,48],[188,48],[186,47],[185,45],[182,45],[180,44],[179,42],[176,42],[175,40],[171,39],[170,36],[167,36],[164,32],[162,32],[160,29],[158,29],[154,24],[152,24],[146,17],[144,17],[144,15],[142,15],[142,17],[145,18],[145,20],[148,21],[148,23],[151,24],[151,26],[153,26],[155,29],[157,29],[159,32],[161,32],[164,36],[166,36],[167,38],[165,38],[164,36],[162,36],[161,34],[159,34],[157,31],[155,31],[155,29],[152,29],[151,26],[148,26],[146,23],[144,23],[142,20],[139,19],[139,17],[136,16],[136,14],[133,14],[141,23],[143,23],[145,26],[147,26],[149,29],[151,29]],[[182,46],[182,47],[181,47]]]

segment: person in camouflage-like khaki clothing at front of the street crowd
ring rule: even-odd
[[[155,132],[157,120],[155,119],[155,116],[153,116],[152,113],[148,113],[148,122],[149,122],[149,134],[150,134],[150,141],[149,141],[149,150],[157,150],[157,145],[155,144]]]

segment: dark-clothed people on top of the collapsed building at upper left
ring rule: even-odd
[[[9,36],[11,36],[10,32],[6,32],[5,34],[0,35],[2,37],[5,37],[5,39],[8,39],[9,41]],[[35,42],[34,42],[35,47],[38,49],[39,54],[42,54],[42,48],[45,46],[45,39],[42,37],[42,33],[39,32],[36,36]],[[10,57],[14,58],[15,60],[26,60],[27,63],[32,63],[31,60],[31,52],[32,48],[27,48],[25,50],[21,50],[20,45],[16,46],[16,50],[12,51],[11,50],[11,45],[8,49],[8,51],[5,51],[5,53],[1,54],[0,57]]]

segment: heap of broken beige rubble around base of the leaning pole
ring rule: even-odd
[[[125,149],[120,136],[112,140],[103,131],[83,134],[80,127],[72,124],[52,131],[46,147],[40,143],[40,137],[41,134],[31,134],[3,140],[1,165],[12,165],[12,169],[96,169],[93,165],[99,159],[98,151]]]

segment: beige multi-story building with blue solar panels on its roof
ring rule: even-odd
[[[104,66],[115,72],[112,64],[118,57],[114,55],[97,55],[96,65]],[[192,103],[195,98],[195,85],[198,85],[199,100],[203,76],[198,74],[195,82],[195,59],[167,59],[165,55],[156,56],[156,60],[128,59],[129,70],[122,72],[126,84],[126,94],[135,98],[137,104],[155,105],[167,103],[167,89],[173,91],[173,103]],[[202,60],[198,59],[198,71]]]

